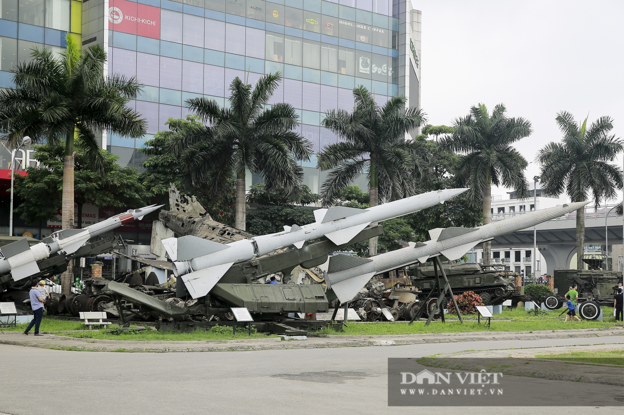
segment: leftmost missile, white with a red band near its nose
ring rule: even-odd
[[[140,209],[130,209],[127,212],[109,217],[83,229],[61,229],[44,238],[39,244],[29,246],[26,239],[12,242],[0,248],[0,275],[11,272],[13,280],[18,281],[39,272],[37,261],[46,259],[56,252],[72,254],[83,246],[90,238],[111,231],[115,227],[125,225],[135,219],[154,212],[159,207],[152,204]]]

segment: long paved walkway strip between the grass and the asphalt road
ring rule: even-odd
[[[614,328],[586,328],[573,330],[542,330],[534,332],[472,332],[472,333],[426,333],[409,335],[326,335],[308,337],[308,340],[279,341],[277,338],[250,340],[206,341],[141,341],[141,340],[95,340],[44,335],[24,336],[22,333],[0,334],[0,344],[55,348],[83,351],[249,351],[278,349],[334,348],[350,346],[401,346],[427,343],[456,343],[465,341],[547,340],[571,338],[621,337],[624,330]]]

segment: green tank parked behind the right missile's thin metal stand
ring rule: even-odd
[[[442,262],[442,268],[454,295],[472,291],[483,298],[485,305],[500,305],[515,294],[515,285],[506,279],[507,273],[504,271],[484,271],[481,265],[475,262],[452,264],[445,261]],[[436,282],[432,262],[410,265],[407,268],[407,276],[411,279],[412,285],[418,287],[421,299],[427,297]]]

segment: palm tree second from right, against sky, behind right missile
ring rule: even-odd
[[[470,113],[456,118],[452,135],[441,145],[460,154],[456,167],[459,186],[469,186],[469,199],[483,203],[483,224],[491,222],[492,184],[512,188],[520,198],[528,196],[524,169],[527,161],[512,143],[532,132],[524,118],[509,118],[505,105],[496,105],[490,115],[484,104],[471,107]],[[483,244],[484,265],[490,265],[492,242]]]

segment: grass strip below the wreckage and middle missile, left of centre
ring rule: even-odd
[[[142,330],[140,332],[125,331],[118,333],[110,333],[107,330],[92,330],[90,332],[81,333],[64,333],[63,336],[77,338],[95,338],[104,340],[232,340],[245,338],[268,338],[278,337],[276,335],[267,336],[265,333],[251,333],[251,337],[247,333],[236,333],[232,335],[232,327],[227,330],[195,330],[190,333],[178,332],[157,332],[156,330]]]

